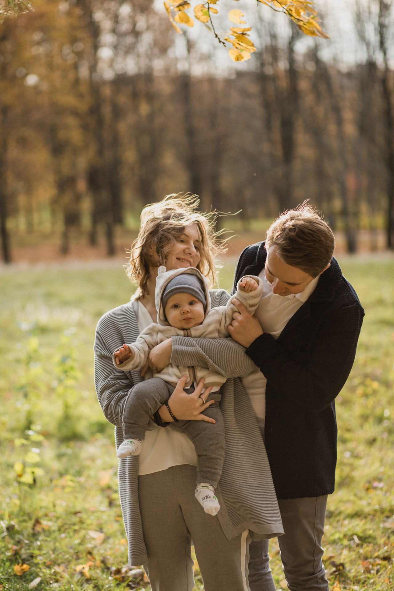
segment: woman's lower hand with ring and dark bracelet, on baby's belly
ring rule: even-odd
[[[206,423],[216,423],[213,418],[206,417],[206,415],[201,414],[211,404],[214,404],[214,400],[205,402],[212,388],[208,387],[204,391],[204,394],[201,395],[201,392],[204,388],[204,378],[201,378],[194,392],[187,394],[184,391],[186,382],[187,375],[184,375],[180,380],[178,380],[178,384],[176,385],[174,392],[172,392],[170,398],[168,399],[168,406],[171,408],[172,414],[180,420],[206,421]],[[159,415],[166,423],[170,423],[173,420],[164,405],[159,408]]]

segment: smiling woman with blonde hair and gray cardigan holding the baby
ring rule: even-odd
[[[168,270],[196,267],[214,279],[217,252],[207,216],[196,211],[198,201],[168,196],[145,207],[141,230],[131,251],[128,275],[139,283],[132,301],[110,310],[97,325],[95,381],[100,405],[115,425],[116,446],[122,442],[122,411],[139,372],[124,372],[112,363],[112,353],[133,342],[156,321],[155,278],[159,265]],[[212,306],[226,304],[229,294],[211,290]],[[244,349],[232,339],[185,339],[166,342],[176,365],[215,368],[235,378],[254,368]],[[161,355],[163,353],[161,352]],[[164,355],[165,356],[165,355]],[[176,358],[176,359],[175,359]],[[144,373],[144,372],[142,372]],[[145,376],[146,378],[147,376]],[[169,400],[172,412],[184,420],[206,420],[208,405],[183,391],[180,380]],[[215,517],[204,513],[194,498],[196,452],[187,437],[152,420],[140,456],[119,460],[119,494],[129,541],[129,563],[143,564],[152,591],[193,589],[194,548],[206,591],[242,591],[248,587],[248,547],[251,539],[282,533],[271,472],[249,399],[239,379],[227,379],[221,389],[226,428],[226,457],[217,487],[222,508]],[[159,410],[162,427],[172,419]],[[176,491],[176,492],[175,492]]]

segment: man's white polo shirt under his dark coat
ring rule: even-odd
[[[269,333],[274,339],[277,339],[293,314],[301,308],[302,304],[313,293],[320,275],[312,280],[304,291],[289,296],[279,296],[272,293],[271,283],[265,277],[265,269],[259,273],[259,277],[263,282],[263,293],[255,311],[255,317],[258,319],[263,332]],[[243,387],[250,398],[260,428],[264,427],[265,421],[266,383],[267,381],[259,369],[242,378]]]

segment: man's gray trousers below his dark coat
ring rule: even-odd
[[[284,535],[278,537],[287,586],[291,591],[328,591],[321,557],[327,495],[279,500]],[[275,591],[268,540],[249,547],[250,591]]]

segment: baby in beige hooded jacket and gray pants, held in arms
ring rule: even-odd
[[[141,332],[132,345],[123,345],[113,353],[113,363],[123,371],[141,370],[149,352],[159,343],[172,336],[191,336],[217,339],[229,336],[233,312],[237,311],[232,301],[237,298],[253,314],[262,294],[262,281],[252,275],[242,277],[237,291],[227,306],[211,309],[207,282],[196,268],[166,271],[159,267],[156,281],[155,301],[158,324],[151,324]],[[203,414],[213,418],[206,421],[178,420],[168,405],[168,398],[178,380],[187,375],[185,390],[194,391],[201,378],[204,388],[210,391],[209,400],[214,400]],[[180,367],[170,363],[154,378],[140,382],[132,388],[123,410],[123,437],[117,456],[137,456],[151,416],[164,404],[174,419],[172,428],[183,431],[193,442],[197,454],[196,498],[204,511],[216,515],[220,509],[214,490],[222,474],[224,460],[224,425],[219,408],[219,389],[226,376],[202,367]]]

